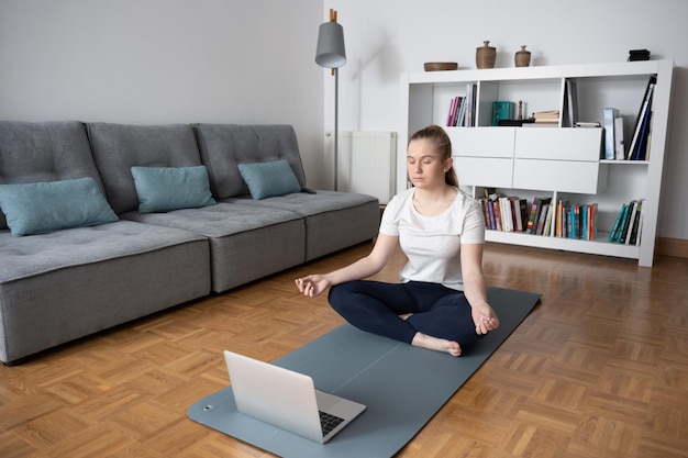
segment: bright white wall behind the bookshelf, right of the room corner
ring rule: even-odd
[[[399,74],[424,62],[475,68],[476,47],[497,47],[496,67],[513,67],[521,45],[531,65],[622,62],[629,49],[670,58],[673,123],[665,160],[658,236],[688,239],[688,2],[685,0],[331,0],[344,27],[348,62],[340,69],[340,129],[397,131]],[[325,77],[325,130],[332,129],[333,86]]]

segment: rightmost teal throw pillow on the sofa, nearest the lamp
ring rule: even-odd
[[[270,163],[240,164],[238,172],[244,178],[251,197],[267,199],[301,192],[301,186],[286,159]]]

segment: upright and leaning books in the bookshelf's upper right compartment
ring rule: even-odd
[[[604,127],[604,159],[617,160],[647,160],[650,138],[652,137],[652,107],[656,76],[651,76],[645,88],[645,94],[633,125],[632,136],[628,142],[624,138],[623,118],[613,107],[603,109],[602,126]]]

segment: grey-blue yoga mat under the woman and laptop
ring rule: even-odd
[[[540,294],[490,287],[488,300],[500,327],[464,348],[458,358],[344,324],[274,361],[311,376],[318,390],[367,405],[325,445],[238,413],[229,386],[191,405],[188,416],[281,457],[391,457],[521,324]]]

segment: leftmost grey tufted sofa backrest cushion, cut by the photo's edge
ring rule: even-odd
[[[78,121],[0,121],[0,183],[37,183],[91,177],[102,182],[84,124]],[[8,228],[0,212],[0,228]]]

